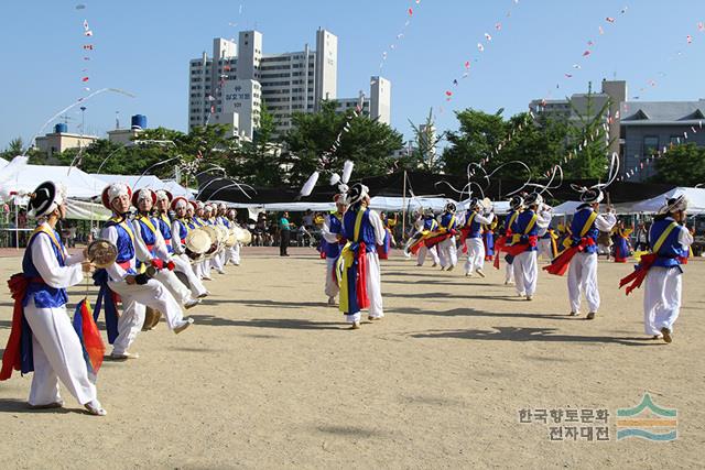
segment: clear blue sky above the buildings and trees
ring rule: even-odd
[[[77,4],[86,8],[76,10]],[[413,17],[404,29],[410,7]],[[143,113],[150,127],[186,130],[188,59],[210,53],[213,37],[237,37],[243,29],[263,33],[264,53],[313,47],[316,29],[330,30],[339,37],[340,97],[369,90],[369,77],[380,74],[389,51],[381,75],[392,81],[392,125],[406,136],[409,120],[423,122],[431,107],[438,129],[456,129],[453,110],[505,108],[508,116],[525,110],[533,98],[581,92],[588,81],[599,88],[603,78],[628,80],[630,97],[641,100],[695,100],[705,98],[705,32],[697,28],[705,21],[702,0],[4,1],[0,149],[18,135],[29,140],[85,94],[84,76],[94,90],[116,87],[137,95],[104,94],[86,102],[88,132],[112,129],[118,110],[123,123]],[[83,35],[84,20],[93,37]],[[95,50],[84,54],[88,43]],[[584,58],[586,50],[592,54]],[[463,79],[466,61],[470,70]],[[67,114],[76,130],[80,111]]]

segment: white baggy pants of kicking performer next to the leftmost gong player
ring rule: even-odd
[[[161,311],[170,329],[184,325],[184,314],[170,292],[155,280],[147,284],[129,285],[124,281],[109,282],[108,286],[122,299],[122,315],[118,319],[118,337],[112,343],[113,354],[124,354],[144,324],[144,306]]]

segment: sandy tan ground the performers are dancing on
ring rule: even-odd
[[[542,273],[527,302],[494,269],[468,278],[395,254],[382,269],[387,317],[350,331],[325,305],[317,253],[291,253],[245,250],[240,267],[207,283],[213,295],[191,310],[191,329],[175,336],[162,323],[138,337],[140,359],[106,361],[106,417],[86,415],[67,393],[62,409],[29,411],[31,375],[0,383],[1,467],[703,464],[705,262],[686,266],[674,342],[664,345],[643,335],[642,293],[617,289],[631,264],[600,262],[603,308],[586,321],[566,316],[565,278]],[[19,264],[0,259],[2,278]],[[2,347],[10,318],[3,294]],[[617,440],[617,408],[644,392],[677,409],[676,440]],[[521,424],[521,409],[587,415],[577,425]],[[608,411],[606,424],[590,423],[597,409]],[[551,426],[585,437],[552,441]],[[588,439],[598,427],[608,427],[608,441]]]

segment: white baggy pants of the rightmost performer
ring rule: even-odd
[[[653,266],[647,273],[643,288],[643,327],[647,335],[661,335],[661,328],[673,331],[681,311],[682,271],[680,267]]]

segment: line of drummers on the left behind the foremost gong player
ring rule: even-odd
[[[105,188],[102,204],[112,216],[100,240],[69,255],[57,231],[66,217],[62,188],[46,182],[32,194],[30,207],[40,223],[29,239],[22,274],[10,281],[14,309],[0,380],[13,370],[34,372],[29,398],[33,408],[63,406],[61,381],[88,413],[105,415],[95,386],[96,364],[89,360],[102,341],[86,336],[100,311],[112,345],[109,358],[137,359],[131,347],[141,330],[153,328],[161,315],[174,334],[186,330],[193,320],[184,310],[209,295],[203,281],[210,280],[213,271],[225,274],[227,264],[240,264],[238,242],[206,238],[207,245],[199,245],[198,237],[192,237],[206,227],[228,232],[237,226],[235,209],[223,204],[172,198],[169,192],[148,188],[132,194],[122,183]],[[100,287],[96,310],[77,326],[66,311],[67,288],[90,272]]]

